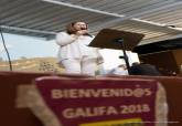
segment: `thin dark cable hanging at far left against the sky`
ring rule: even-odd
[[[4,41],[4,38],[3,38],[1,25],[0,25],[0,33],[1,33],[1,39],[2,39],[3,48],[4,48],[6,53],[7,53],[7,56],[8,56],[8,62],[9,62],[10,71],[12,71],[12,63],[11,63],[10,54],[9,54],[8,49],[7,49],[7,45],[6,45],[6,41]]]

